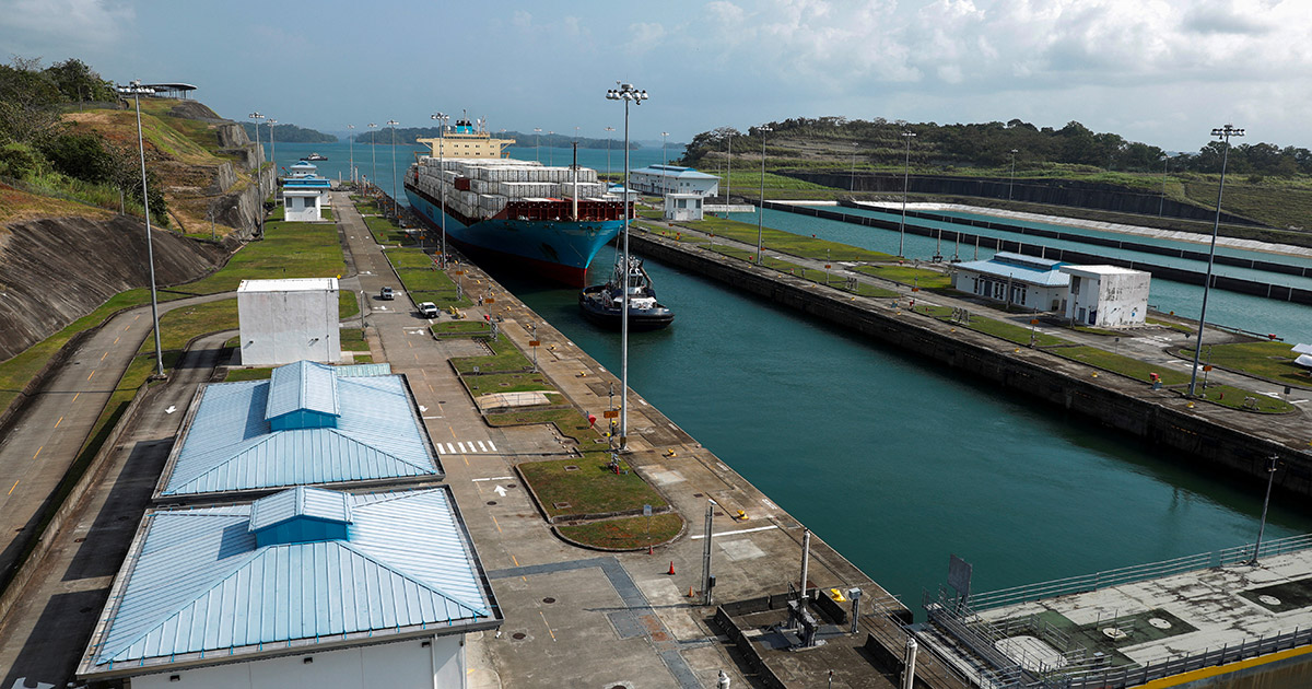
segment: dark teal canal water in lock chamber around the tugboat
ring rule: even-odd
[[[604,249],[593,282],[611,260]],[[631,336],[631,387],[912,609],[946,580],[950,554],[989,591],[1257,535],[1263,484],[1191,470],[1060,408],[647,266],[677,319]],[[492,274],[618,373],[618,333],[585,322],[575,290]],[[1308,530],[1309,516],[1273,504],[1269,538]]]

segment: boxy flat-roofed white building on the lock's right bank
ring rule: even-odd
[[[1061,272],[1071,276],[1067,319],[1099,328],[1144,324],[1151,274],[1115,265],[1063,265]]]

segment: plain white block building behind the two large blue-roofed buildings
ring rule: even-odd
[[[243,280],[237,322],[245,366],[341,358],[337,278]]]

